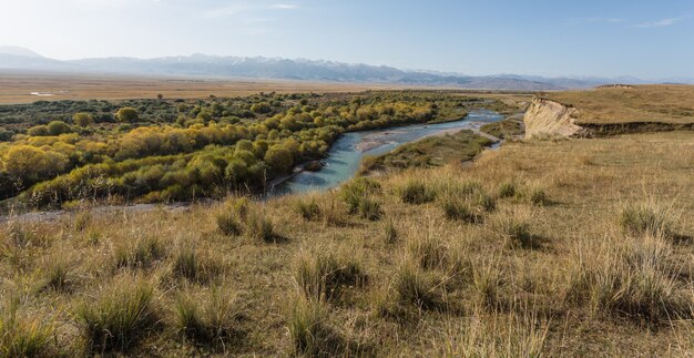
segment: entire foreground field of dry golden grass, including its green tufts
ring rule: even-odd
[[[0,355],[691,356],[693,177],[690,133],[528,141],[334,193],[10,221]]]

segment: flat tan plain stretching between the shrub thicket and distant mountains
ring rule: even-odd
[[[396,84],[330,83],[309,81],[224,79],[210,76],[133,76],[109,74],[64,74],[0,72],[0,104],[32,103],[34,101],[60,100],[126,100],[156,99],[206,99],[215,96],[245,96],[259,92],[341,93],[367,90],[402,90],[408,86]],[[411,86],[409,86],[411,88]],[[428,88],[417,86],[426,90]],[[431,88],[432,90],[445,90]],[[34,95],[32,92],[51,94]],[[527,102],[528,93],[489,93],[457,90],[466,95],[504,99],[508,102]]]

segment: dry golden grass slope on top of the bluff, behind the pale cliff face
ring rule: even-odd
[[[579,109],[578,123],[694,122],[694,85],[635,85],[565,91],[547,98]]]

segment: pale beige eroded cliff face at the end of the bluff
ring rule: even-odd
[[[574,123],[578,114],[573,106],[534,98],[523,116],[525,137],[578,135],[583,131]]]

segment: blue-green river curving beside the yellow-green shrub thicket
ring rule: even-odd
[[[392,151],[400,144],[451,130],[479,129],[484,123],[497,122],[503,116],[488,110],[476,110],[465,119],[437,124],[412,124],[384,130],[350,132],[343,134],[323,160],[325,166],[318,172],[302,172],[283,182],[268,193],[278,196],[310,191],[326,191],[351,178],[359,170],[361,158]]]

